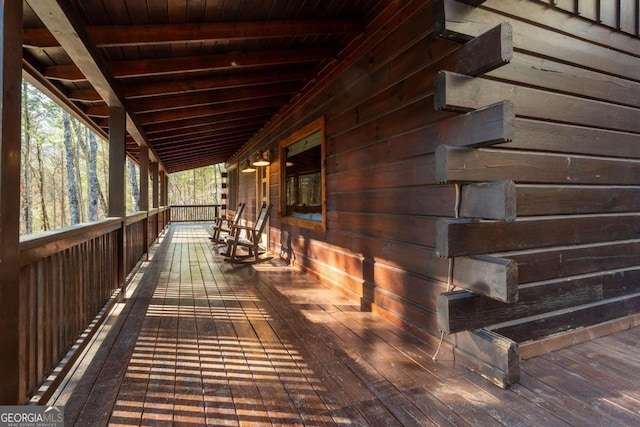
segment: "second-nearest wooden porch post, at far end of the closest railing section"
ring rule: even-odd
[[[118,286],[125,296],[125,256],[126,256],[126,224],[127,216],[125,163],[126,163],[126,117],[122,107],[112,106],[109,109],[109,216],[122,218],[122,227],[118,233]]]

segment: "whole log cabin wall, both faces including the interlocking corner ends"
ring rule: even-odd
[[[640,312],[637,2],[635,33],[561,3],[408,3],[251,146],[324,116],[327,230],[280,224],[276,159],[272,244],[503,386],[528,343]]]

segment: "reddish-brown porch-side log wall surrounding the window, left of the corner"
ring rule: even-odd
[[[402,31],[380,34],[350,68],[254,142],[277,153],[280,140],[325,116],[327,231],[280,224],[276,158],[272,245],[277,249],[280,228],[288,231],[297,266],[430,338],[437,335],[436,296],[446,290],[448,266],[435,254],[435,223],[454,215],[456,199],[455,186],[435,181],[431,141],[439,123],[458,119],[434,110],[433,80],[443,64],[455,66],[460,45],[425,26],[433,22],[430,4],[413,2],[401,13],[411,15]],[[240,200],[254,197],[255,175],[241,174]]]

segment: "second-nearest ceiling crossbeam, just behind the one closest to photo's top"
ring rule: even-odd
[[[51,0],[47,0],[51,1]],[[298,48],[263,52],[232,52],[208,56],[180,56],[161,59],[113,61],[108,69],[115,78],[157,76],[212,70],[231,70],[250,67],[298,64],[323,61],[335,57],[332,47]],[[86,70],[73,64],[50,65],[44,75],[54,80],[80,81]],[[86,77],[88,78],[88,76]]]

